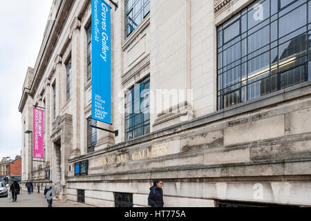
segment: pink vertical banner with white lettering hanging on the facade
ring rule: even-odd
[[[44,159],[44,111],[33,108],[33,157]]]

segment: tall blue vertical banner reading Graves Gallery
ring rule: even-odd
[[[92,6],[92,118],[111,124],[111,7],[104,0]]]

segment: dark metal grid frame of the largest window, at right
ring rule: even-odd
[[[285,13],[284,13],[284,15],[279,15],[279,13],[281,13],[281,11],[283,10],[283,9],[285,9],[285,8],[288,8],[289,6],[292,6],[292,4],[294,4],[294,3],[296,3],[296,2],[298,2],[298,0],[295,0],[295,1],[292,1],[291,3],[289,3],[287,6],[284,6],[283,8],[280,8],[281,7],[281,1],[279,0],[278,1],[278,11],[276,12],[276,13],[274,13],[274,15],[272,15],[272,3],[271,3],[271,1],[270,1],[270,15],[269,15],[269,17],[267,18],[267,19],[265,19],[265,20],[263,20],[263,21],[261,21],[261,22],[259,22],[259,23],[256,23],[256,25],[255,26],[252,26],[252,28],[249,28],[249,22],[248,22],[248,19],[249,19],[249,16],[248,16],[248,14],[247,13],[249,13],[249,6],[247,6],[247,7],[245,7],[245,8],[243,8],[243,10],[241,10],[240,12],[238,12],[236,15],[239,15],[239,16],[236,16],[236,15],[234,15],[234,17],[232,18],[232,21],[230,21],[230,19],[229,20],[227,20],[227,21],[225,21],[224,23],[226,23],[226,27],[224,28],[223,27],[223,24],[221,24],[220,26],[218,26],[218,27],[216,27],[216,33],[217,33],[217,39],[216,39],[216,44],[217,44],[217,46],[216,46],[216,50],[217,50],[217,52],[216,52],[216,55],[217,55],[217,57],[216,57],[216,62],[217,62],[217,71],[216,71],[216,82],[217,82],[217,95],[216,95],[216,97],[217,97],[217,110],[222,110],[222,109],[224,109],[224,108],[227,108],[227,107],[225,107],[225,95],[228,95],[228,94],[231,94],[231,93],[234,93],[234,92],[236,92],[236,90],[239,90],[239,102],[238,102],[238,104],[240,104],[240,103],[242,103],[242,102],[247,102],[247,101],[249,101],[249,100],[252,100],[252,99],[250,99],[250,97],[249,97],[249,86],[251,86],[252,84],[255,84],[257,81],[266,81],[267,79],[268,79],[268,81],[269,81],[269,90],[267,90],[267,91],[265,91],[265,95],[267,95],[267,94],[269,94],[269,93],[272,93],[272,78],[273,77],[275,77],[275,76],[277,76],[277,79],[276,79],[276,88],[277,88],[277,90],[281,90],[282,88],[281,88],[281,79],[282,79],[282,74],[283,73],[286,73],[286,72],[288,72],[288,71],[290,71],[290,70],[294,70],[295,68],[299,68],[300,66],[304,66],[304,80],[303,81],[301,81],[300,83],[295,83],[295,81],[294,81],[294,85],[296,85],[296,84],[301,84],[302,82],[304,82],[304,81],[308,81],[308,68],[309,68],[309,61],[311,60],[311,50],[309,49],[309,46],[308,46],[308,44],[309,44],[309,42],[310,42],[310,39],[309,39],[309,37],[310,37],[310,29],[308,29],[308,28],[310,28],[310,21],[309,21],[309,4],[311,3],[310,1],[305,1],[305,2],[303,2],[303,3],[299,3],[299,4],[297,4],[296,6],[294,6],[294,7],[292,7],[288,12],[286,11]],[[255,2],[256,3],[256,2]],[[284,36],[282,36],[282,37],[280,37],[279,36],[279,21],[280,21],[280,19],[282,18],[282,17],[284,17],[285,15],[288,15],[288,13],[290,13],[290,12],[293,12],[294,10],[296,10],[297,8],[299,8],[299,7],[301,7],[301,6],[303,6],[303,5],[305,5],[305,7],[306,7],[306,9],[307,9],[307,12],[306,12],[306,23],[304,23],[303,24],[303,26],[301,26],[301,27],[299,27],[299,28],[296,28],[296,30],[293,30],[292,32],[289,32],[289,33],[287,33],[286,35],[284,35]],[[241,28],[242,28],[242,18],[243,18],[243,16],[244,15],[246,15],[246,22],[247,22],[247,27],[246,27],[246,31],[244,32],[244,33],[242,33],[242,31],[241,31]],[[225,41],[225,29],[226,28],[229,28],[229,26],[231,26],[232,24],[234,24],[234,23],[236,23],[236,21],[238,21],[238,20],[240,20],[240,35],[238,35],[238,36],[236,36],[236,37],[234,37],[234,38],[232,38],[232,39],[230,39],[229,41],[227,41],[226,42],[226,44],[230,44],[231,42],[234,42],[234,41],[236,41],[236,39],[237,38],[240,38],[238,41],[236,41],[236,42],[234,42],[234,44],[232,44],[232,45],[230,45],[230,46],[227,46],[226,47],[226,45],[225,45],[225,43],[224,43],[224,41]],[[263,23],[264,22],[267,22],[267,21],[269,21],[267,24],[265,24],[264,26],[262,26],[263,25]],[[275,41],[273,41],[272,42],[272,39],[271,39],[271,25],[272,25],[272,23],[274,22],[274,21],[277,21],[277,28],[278,28],[278,30],[277,30],[277,39],[275,40]],[[261,27],[262,26],[262,27]],[[258,27],[261,27],[261,28],[259,28],[258,30],[261,30],[262,28],[266,28],[267,26],[270,26],[270,28],[269,28],[269,30],[270,30],[270,39],[269,39],[269,44],[266,44],[265,46],[261,46],[261,48],[257,48],[256,50],[254,50],[254,51],[252,51],[252,52],[249,52],[249,49],[248,49],[248,37],[250,36],[250,35],[253,35],[254,34],[254,32],[252,32],[252,34],[249,34],[249,30],[254,30],[254,28],[256,29],[256,27],[258,28]],[[290,35],[292,35],[294,32],[297,32],[297,31],[299,31],[300,29],[302,29],[302,28],[306,28],[306,31],[304,31],[304,32],[301,32],[301,34],[299,34],[299,35],[295,35],[294,37],[292,37],[292,36],[290,36]],[[258,30],[256,30],[256,31],[258,31]],[[255,32],[256,32],[255,31]],[[219,35],[219,39],[218,39],[218,35]],[[245,35],[245,36],[244,36]],[[302,36],[302,35],[306,35],[306,41],[305,41],[305,51],[304,51],[304,54],[303,55],[301,55],[301,56],[299,56],[299,58],[295,58],[295,61],[297,62],[297,61],[299,61],[298,63],[299,64],[295,64],[294,66],[290,66],[289,68],[286,68],[285,70],[281,70],[280,71],[280,63],[279,63],[279,47],[282,45],[282,44],[285,44],[286,42],[290,42],[290,41],[293,41],[294,39],[296,39],[296,37],[299,37],[299,36]],[[286,37],[291,37],[290,39],[287,39],[286,41],[284,41],[283,43],[281,43],[280,41],[282,40],[282,39],[285,39]],[[222,39],[222,42],[220,42],[220,40]],[[241,56],[237,59],[237,60],[235,60],[235,61],[232,61],[230,64],[226,64],[226,66],[223,66],[223,64],[224,64],[224,57],[225,57],[225,50],[227,50],[227,48],[230,48],[230,47],[232,47],[232,46],[234,46],[235,44],[238,44],[238,43],[242,43],[243,42],[243,40],[244,39],[247,39],[247,43],[246,43],[246,50],[247,50],[247,54],[244,56],[244,57],[242,57],[242,55],[243,55],[243,53],[242,53],[242,49],[243,49],[243,46],[241,45],[241,47],[240,47],[240,49],[241,49]],[[276,44],[276,45],[274,45],[274,44]],[[266,47],[268,47],[267,48],[267,50],[265,50],[264,52],[263,51],[261,51],[261,50],[264,50]],[[276,62],[276,65],[277,65],[277,68],[276,68],[276,73],[274,74],[274,75],[272,75],[272,64],[271,64],[271,62],[272,62],[272,50],[274,50],[276,48],[276,50],[277,50],[277,57],[278,57],[278,61]],[[260,55],[256,55],[256,56],[253,56],[252,58],[249,58],[249,55],[254,55],[256,52],[260,52],[261,51],[261,53],[260,53]],[[265,53],[269,53],[269,56],[270,56],[270,61],[269,61],[269,70],[268,70],[268,72],[269,72],[269,76],[267,76],[267,77],[263,77],[262,79],[257,79],[256,81],[249,81],[250,80],[250,78],[249,78],[249,73],[248,73],[248,66],[249,66],[249,61],[251,61],[252,59],[255,59],[256,57],[259,57],[259,56],[261,56],[261,55],[263,55],[263,54],[265,54]],[[221,66],[219,66],[219,59],[220,59],[220,57],[219,56],[222,56],[221,57],[221,59],[222,59],[222,64],[221,64]],[[304,59],[304,61],[301,61],[301,59]],[[238,65],[236,65],[235,63],[238,63]],[[234,65],[234,67],[232,67],[232,65],[233,64],[235,64]],[[243,79],[243,77],[242,77],[242,73],[243,73],[243,70],[242,70],[242,67],[243,67],[243,65],[246,65],[246,69],[247,69],[247,73],[246,73],[246,79]],[[224,77],[225,77],[225,73],[228,71],[228,70],[233,70],[233,68],[236,68],[236,67],[238,67],[238,66],[241,66],[241,76],[240,76],[240,79],[238,80],[238,82],[237,83],[235,83],[235,84],[231,84],[230,86],[227,86],[226,88],[224,87],[225,86],[225,81],[224,81]],[[230,67],[230,68],[228,68],[228,70],[225,70],[225,68],[227,68],[227,67]],[[275,70],[274,68],[273,68],[273,70]],[[260,76],[260,75],[258,75],[258,76]],[[257,76],[257,77],[258,77]],[[219,79],[219,77],[221,77],[222,79]],[[222,82],[220,82],[220,80],[222,81]],[[245,84],[243,84],[245,82]],[[219,84],[222,84],[221,86],[219,85]],[[231,88],[231,87],[233,87],[233,86],[237,86],[238,84],[240,84],[239,86],[238,86],[238,88],[236,88],[236,89],[234,89],[234,90],[229,90],[229,91],[227,91],[229,88]],[[292,86],[292,85],[288,85],[288,86],[286,86],[286,87],[289,87],[289,86]],[[243,100],[242,99],[242,93],[243,93],[243,90],[244,90],[244,88],[245,88],[245,90],[246,90],[246,97],[245,97],[245,99]],[[277,91],[277,90],[274,90],[274,91]],[[274,92],[273,91],[273,92]],[[262,95],[260,95],[259,97],[262,97]],[[256,98],[258,98],[258,97],[255,97],[254,99],[256,99]]]

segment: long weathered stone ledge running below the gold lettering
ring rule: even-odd
[[[111,180],[141,180],[162,177],[163,179],[178,179],[181,177],[189,178],[223,178],[223,177],[270,177],[293,175],[286,169],[288,164],[300,163],[311,166],[311,158],[301,158],[294,160],[262,160],[261,162],[244,162],[226,165],[207,165],[207,166],[175,166],[171,168],[161,168],[153,170],[140,170],[122,173],[96,173],[83,177],[68,176],[68,182],[94,182]],[[272,171],[273,167],[273,171]],[[192,171],[192,172],[191,172]],[[198,172],[196,175],[196,172]],[[247,174],[247,171],[249,174]],[[299,175],[311,175],[310,173],[301,173]],[[168,176],[168,177],[166,177]]]

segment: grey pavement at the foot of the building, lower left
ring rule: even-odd
[[[17,195],[17,202],[12,202],[8,198],[0,197],[0,207],[48,207],[48,202],[44,198],[44,193],[31,193],[21,191],[21,194]],[[80,204],[77,202],[60,202],[53,200],[53,207],[91,207],[86,204]]]

